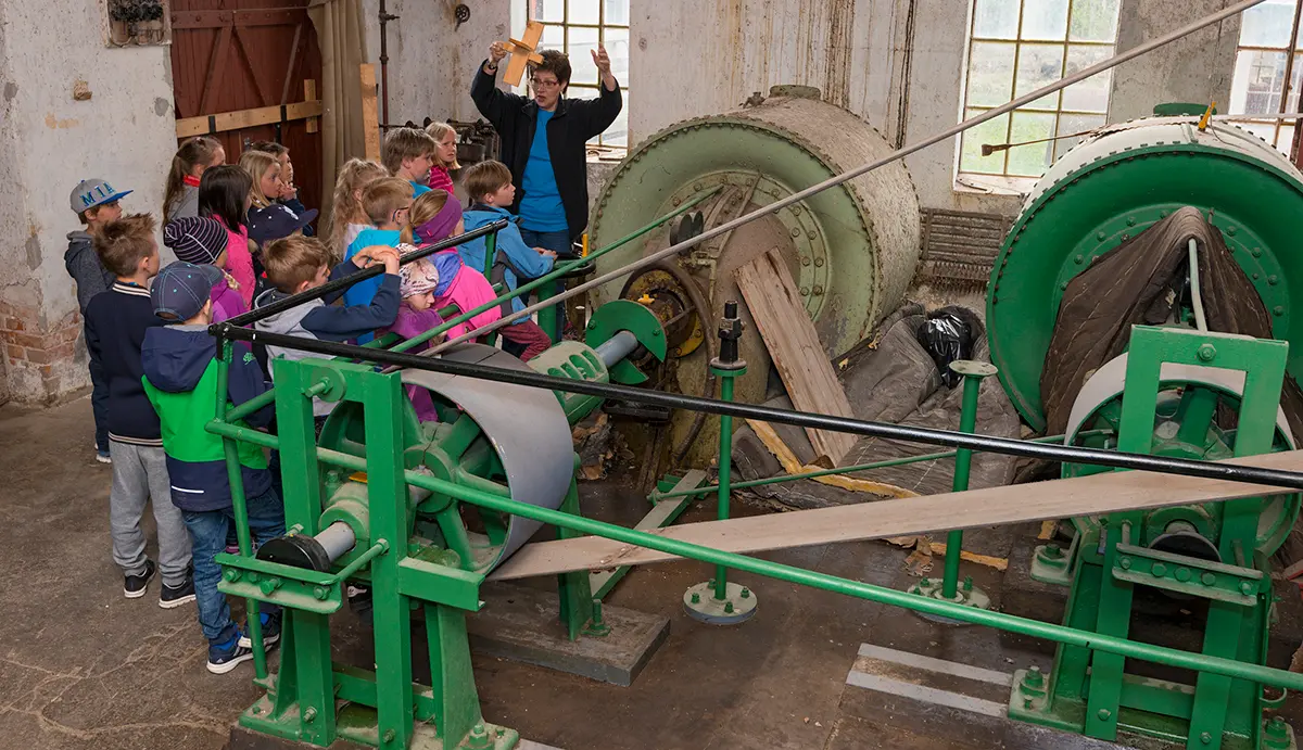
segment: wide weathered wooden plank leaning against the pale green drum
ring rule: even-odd
[[[769,355],[787,385],[792,405],[801,411],[853,418],[846,391],[837,380],[833,363],[818,341],[814,322],[796,290],[787,264],[777,250],[737,268],[737,288],[760,328]],[[837,466],[855,445],[856,436],[846,432],[807,430],[814,452],[827,456]]]

